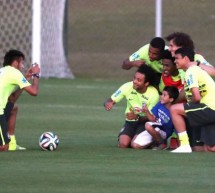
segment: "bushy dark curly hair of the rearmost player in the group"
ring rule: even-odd
[[[173,40],[173,42],[180,47],[189,47],[191,49],[195,49],[193,40],[191,37],[183,32],[174,32],[165,37],[165,39],[169,42]]]

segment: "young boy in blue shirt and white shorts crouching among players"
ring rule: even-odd
[[[134,138],[131,146],[135,149],[143,149],[156,143],[157,146],[153,148],[165,149],[164,141],[167,140],[173,133],[174,126],[171,120],[169,108],[178,98],[179,91],[174,86],[164,87],[160,96],[160,101],[149,111],[147,105],[143,106],[142,111],[146,113],[150,122],[145,123],[145,131]]]

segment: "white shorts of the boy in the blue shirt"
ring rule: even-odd
[[[159,123],[157,122],[147,122],[147,123],[153,126],[155,131],[157,131],[160,134],[162,139],[166,139],[166,132],[160,129],[160,127],[162,126]],[[151,134],[146,130],[141,132],[139,135],[137,135],[136,139],[134,140],[134,143],[140,146],[146,146],[152,142],[153,142],[153,138]]]

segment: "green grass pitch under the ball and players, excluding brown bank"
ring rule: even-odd
[[[122,84],[101,79],[41,80],[36,98],[19,100],[17,140],[27,151],[1,153],[1,193],[213,193],[212,153],[117,148],[124,102],[103,102]],[[55,152],[38,138],[54,131]]]

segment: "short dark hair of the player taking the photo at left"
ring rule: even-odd
[[[9,50],[4,56],[3,66],[10,66],[13,61],[25,59],[25,55],[19,50]]]

